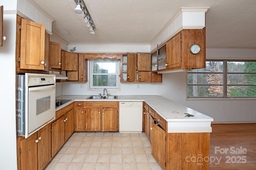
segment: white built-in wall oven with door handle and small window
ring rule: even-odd
[[[55,119],[53,74],[18,75],[18,135],[29,137]]]

